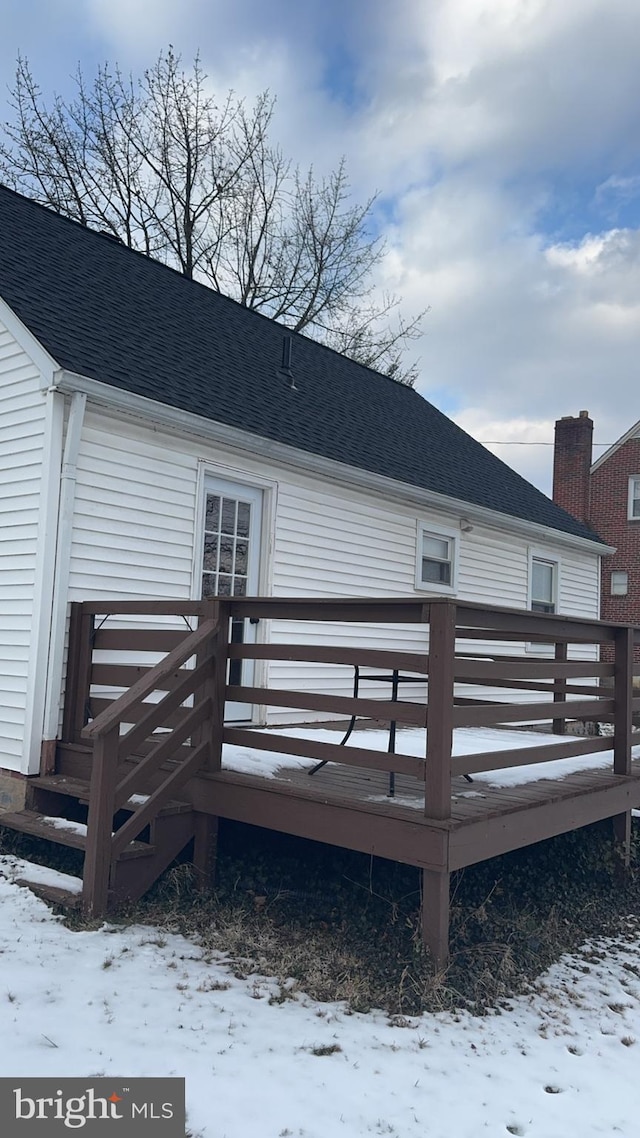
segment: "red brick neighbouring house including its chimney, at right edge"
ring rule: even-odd
[[[592,435],[586,411],[556,423],[553,501],[615,546],[601,562],[601,619],[640,625],[640,422],[596,462]]]

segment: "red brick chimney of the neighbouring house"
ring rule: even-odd
[[[591,513],[591,440],[593,420],[588,411],[577,419],[566,415],[556,423],[553,450],[553,502],[579,521]]]

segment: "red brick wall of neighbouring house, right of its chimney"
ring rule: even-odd
[[[597,534],[615,545],[616,552],[602,558],[602,620],[640,625],[640,519],[630,521],[629,478],[640,475],[640,438],[627,439],[591,475],[591,525]],[[612,571],[629,574],[626,596],[612,596]],[[640,662],[640,652],[635,653]]]

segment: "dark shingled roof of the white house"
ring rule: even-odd
[[[0,296],[67,371],[566,534],[596,535],[417,391],[0,187]]]

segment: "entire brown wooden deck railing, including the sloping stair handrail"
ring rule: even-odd
[[[184,627],[167,627],[167,617],[180,618]],[[122,626],[122,618],[130,622]],[[145,624],[132,626],[136,618],[143,618]],[[165,626],[150,627],[153,618],[161,618]],[[261,621],[261,642],[229,643],[232,618]],[[120,627],[113,626],[114,619]],[[287,621],[300,632],[290,643],[274,643],[269,632],[271,621]],[[347,637],[340,628],[344,624],[351,626]],[[370,632],[364,630],[362,645],[354,646],[353,625],[362,624],[425,626],[419,634],[424,651],[368,648]],[[310,626],[331,626],[335,643],[310,643]],[[280,629],[278,637],[281,635]],[[397,635],[402,641],[402,634]],[[345,638],[348,643],[344,643]],[[167,797],[203,766],[210,770],[220,767],[223,742],[411,775],[424,783],[426,816],[438,820],[451,816],[451,778],[457,775],[569,759],[612,747],[614,772],[627,775],[632,718],[640,711],[640,694],[633,691],[634,642],[640,643],[640,630],[627,626],[450,599],[270,597],[91,601],[73,605],[64,739],[92,741],[95,748],[88,834],[90,902],[99,909],[106,898],[110,860],[140,833]],[[544,658],[536,654],[540,645],[545,649]],[[613,649],[613,663],[597,658],[602,646]],[[105,652],[112,662],[104,660]],[[159,663],[145,666],[121,662],[122,653],[129,658],[134,653],[134,659],[148,653],[169,654]],[[393,701],[370,692],[354,696],[285,690],[269,683],[224,685],[228,660],[358,665],[389,675],[399,671],[415,677],[415,692],[419,694],[413,692],[411,698]],[[186,667],[187,661],[195,661],[195,666]],[[348,683],[345,681],[345,686]],[[105,695],[109,687],[122,694],[109,700]],[[159,702],[149,702],[158,694]],[[368,747],[366,732],[360,735],[360,745],[343,747],[274,729],[224,726],[224,701],[293,709],[303,712],[306,721],[318,715],[333,720],[354,716],[426,727],[425,754],[403,754],[402,733],[396,740],[397,750],[389,754]],[[457,727],[539,726],[551,721],[560,736],[567,720],[610,723],[613,740],[563,735],[556,744],[452,758]],[[138,765],[126,767],[132,757]],[[132,793],[146,792],[149,777],[169,759],[180,760],[179,765],[112,836],[114,811],[130,801]]]

